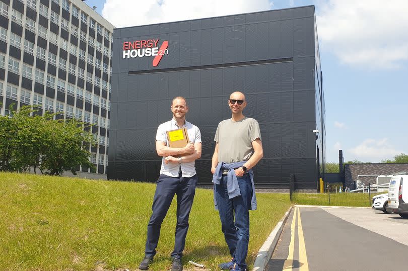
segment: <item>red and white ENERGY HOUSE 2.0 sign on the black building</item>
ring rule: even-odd
[[[162,57],[169,53],[168,46],[169,41],[165,40],[159,48],[159,39],[125,41],[123,42],[122,58],[154,56],[153,66],[156,67]]]

